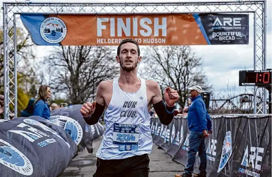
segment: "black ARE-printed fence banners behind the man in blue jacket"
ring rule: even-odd
[[[205,140],[207,176],[271,177],[271,115],[211,117],[213,133]],[[186,117],[165,126],[151,119],[153,142],[186,166],[189,134]],[[196,157],[194,172],[200,159]]]

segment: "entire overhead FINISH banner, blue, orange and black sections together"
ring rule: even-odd
[[[248,14],[37,14],[21,19],[37,45],[248,44]]]

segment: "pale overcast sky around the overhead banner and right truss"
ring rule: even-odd
[[[2,4],[3,0],[0,0]],[[14,1],[14,0],[13,0]],[[23,1],[23,0],[18,0]],[[52,2],[60,0],[35,0],[43,2]],[[73,0],[61,0],[63,2],[73,2]],[[74,0],[75,1],[75,0]],[[80,2],[86,2],[89,0],[80,0]],[[121,0],[95,0],[96,2],[118,2]],[[146,0],[125,0],[126,2],[146,1]],[[165,0],[148,0],[163,2]],[[185,1],[185,0],[170,0]],[[187,0],[188,1],[188,0]],[[206,1],[206,0],[198,0]],[[209,0],[210,1],[210,0]],[[78,1],[77,1],[78,2]],[[93,2],[93,0],[92,0]],[[193,45],[193,50],[203,57],[204,71],[208,76],[208,81],[213,85],[215,92],[222,91],[226,88],[226,83],[230,85],[236,85],[237,93],[244,92],[244,87],[238,86],[238,71],[239,70],[252,70],[253,69],[253,15],[249,15],[249,44],[247,45]],[[267,1],[267,66],[271,68],[271,0]],[[37,46],[38,58],[42,58],[49,47]]]

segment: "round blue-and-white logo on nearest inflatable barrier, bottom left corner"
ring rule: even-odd
[[[3,139],[0,139],[0,163],[23,175],[29,176],[33,173],[33,166],[28,157]]]

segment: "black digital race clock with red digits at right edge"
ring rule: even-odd
[[[271,86],[271,70],[240,70],[239,86]]]

